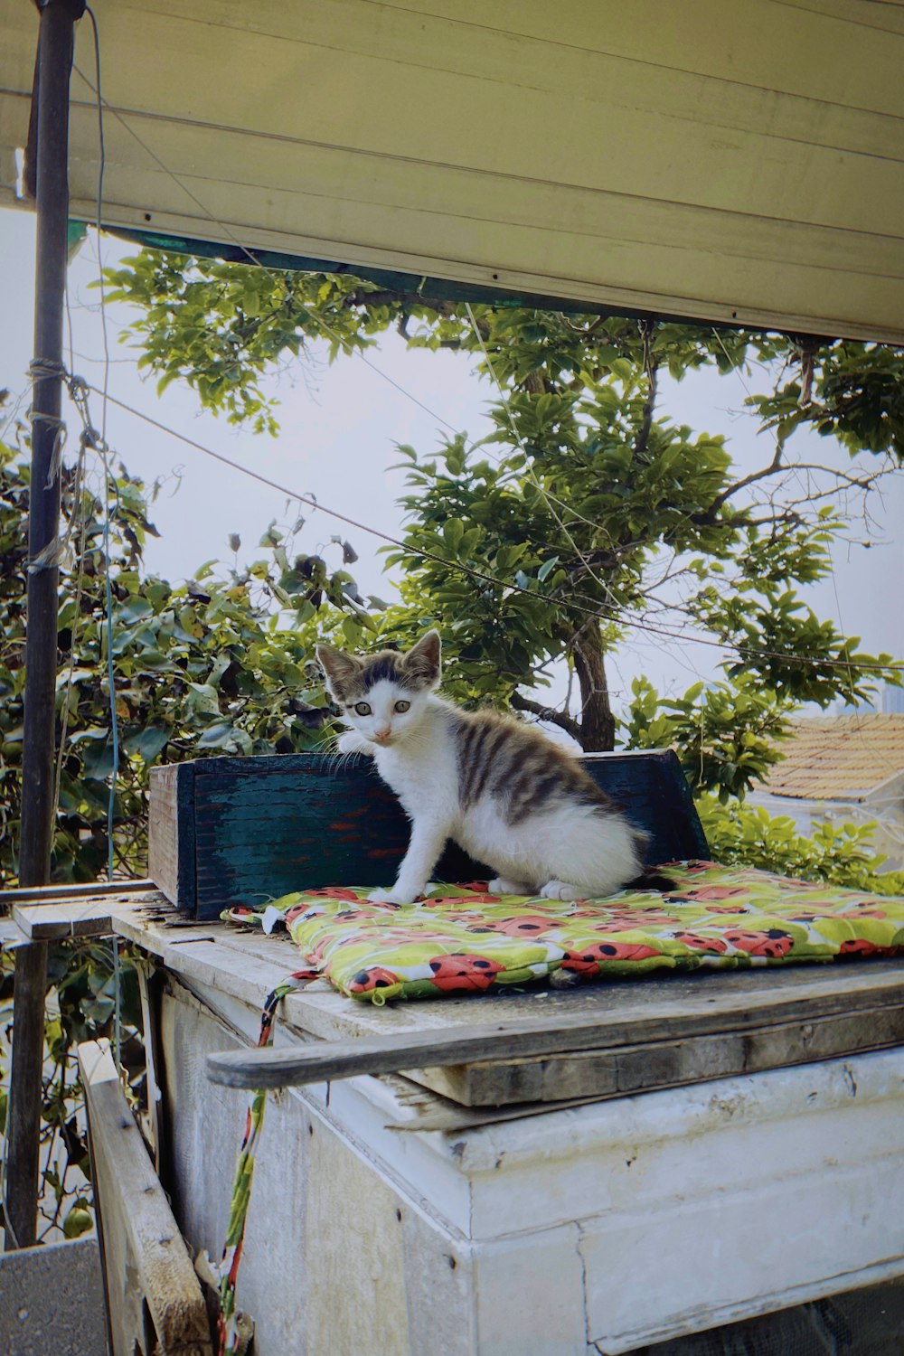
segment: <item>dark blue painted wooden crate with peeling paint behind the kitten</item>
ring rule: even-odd
[[[671,751],[588,754],[594,780],[649,834],[649,864],[705,857],[706,838]],[[218,918],[321,885],[389,885],[408,820],[366,758],[205,758],[150,770],[148,873],[180,910]],[[487,869],[450,846],[438,880]]]

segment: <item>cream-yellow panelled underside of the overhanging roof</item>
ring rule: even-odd
[[[457,294],[904,342],[900,5],[94,9],[111,226],[447,279]],[[11,202],[37,9],[0,0],[0,23]],[[70,132],[83,220],[98,186],[92,83],[84,19]]]

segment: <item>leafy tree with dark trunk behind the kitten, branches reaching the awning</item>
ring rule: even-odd
[[[668,735],[695,784],[726,797],[779,757],[775,739],[801,702],[862,697],[873,666],[889,663],[858,652],[798,597],[827,572],[843,522],[821,491],[782,488],[800,466],[786,442],[801,424],[840,431],[852,453],[901,454],[903,350],[455,306],[348,277],[150,251],[108,282],[140,308],[140,361],[161,384],[186,378],[233,420],[272,419],[260,374],[316,338],[336,357],[396,325],[412,346],[477,358],[496,392],[493,431],[480,445],[455,437],[432,456],[401,449],[409,527],[389,559],[403,565],[405,606],[385,618],[403,640],[424,621],[440,625],[450,685],[465,700],[510,702],[585,750],[611,749],[606,655],[634,626],[668,640],[684,617],[729,651],[725,681],[676,701],[641,685],[625,734],[633,746]],[[731,372],[749,358],[779,376],[749,400],[773,431],[768,461],[739,477],[720,437],[657,414],[657,384],[663,370]],[[834,476],[867,490],[881,473]],[[577,694],[552,708],[537,687],[558,656]]]

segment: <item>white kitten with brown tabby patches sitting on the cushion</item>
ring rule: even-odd
[[[350,727],[340,751],[370,754],[412,822],[396,884],[369,898],[413,903],[449,838],[492,865],[493,894],[583,899],[632,881],[642,834],[541,731],[435,696],[439,654],[435,631],[407,654],[356,658],[317,645]]]

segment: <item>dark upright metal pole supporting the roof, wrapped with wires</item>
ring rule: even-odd
[[[57,683],[54,555],[60,522],[57,453],[61,410],[62,308],[69,221],[69,76],[83,0],[45,0],[37,66],[37,207],[28,591],[26,610],[24,743],[19,884],[50,879]],[[46,418],[42,418],[46,416]],[[46,942],[16,952],[9,1119],[7,1125],[7,1248],[35,1241]]]

